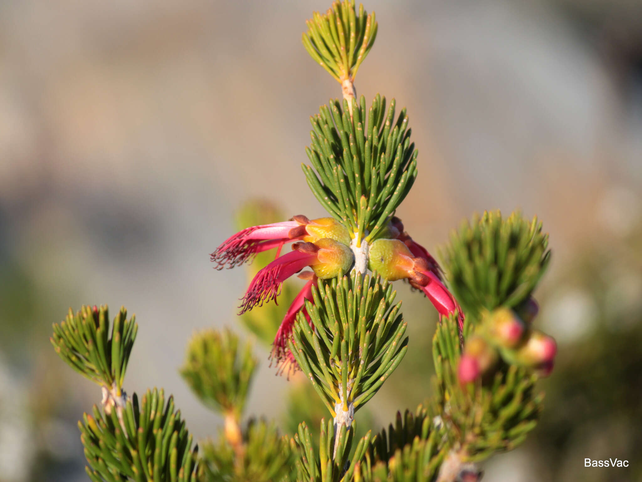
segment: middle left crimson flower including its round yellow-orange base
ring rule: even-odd
[[[329,238],[322,238],[316,243],[297,242],[292,245],[292,249],[291,253],[275,259],[257,272],[242,298],[239,314],[256,305],[263,305],[270,299],[276,300],[283,281],[306,266],[312,267],[315,274],[325,280],[342,276],[354,261],[347,245]]]

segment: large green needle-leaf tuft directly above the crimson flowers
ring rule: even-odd
[[[410,141],[406,109],[395,120],[395,100],[376,95],[366,110],[365,98],[338,100],[311,117],[312,166],[302,165],[308,186],[333,217],[341,220],[360,245],[376,239],[417,177],[417,151]]]

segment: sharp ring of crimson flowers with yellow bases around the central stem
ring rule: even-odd
[[[389,281],[407,279],[417,289],[421,289],[435,305],[441,315],[459,312],[460,328],[464,316],[455,298],[442,282],[442,271],[435,258],[404,231],[400,219],[393,217],[386,231],[386,239],[378,239],[370,245],[369,268],[377,271]],[[292,242],[292,251],[281,254],[282,246]],[[277,248],[276,258],[257,272],[241,299],[241,312],[246,312],[265,301],[275,300],[283,282],[310,267],[311,272],[299,274],[307,280],[303,289],[294,299],[277,330],[272,349],[272,359],[281,364],[279,370],[296,370],[297,364],[288,349],[288,340],[297,314],[308,319],[305,300],[312,299],[312,287],[317,280],[327,280],[343,276],[354,263],[350,249],[351,235],[340,222],[326,217],[309,220],[298,215],[286,222],[276,222],[263,226],[243,229],[225,240],[214,253],[211,260],[217,269],[232,268],[251,261],[257,253]]]

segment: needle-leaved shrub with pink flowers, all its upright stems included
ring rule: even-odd
[[[453,231],[440,265],[408,235],[394,215],[417,177],[406,109],[395,117],[395,101],[386,109],[379,94],[367,108],[354,87],[376,33],[374,13],[346,0],[315,13],[303,35],[311,57],[342,85],[342,102],[311,118],[310,165],[302,166],[330,216],[259,220],[211,254],[220,270],[276,250],[252,272],[239,314],[272,343],[277,373],[300,370],[309,380],[327,409],[318,439],[306,423],[287,435],[265,421],[243,424],[257,360],[229,330],[207,330],[190,342],[181,373],[225,424],[199,451],[171,397],[153,390],[139,401],[123,391],[134,319],[123,308],[110,328],[107,307],[83,307],[54,325],[51,341],[103,391],[101,406],[80,424],[92,481],[474,481],[476,462],[516,447],[537,424],[542,397],[534,384],[551,373],[557,350],[532,326],[548,237],[537,219],[486,212]],[[295,274],[306,283],[294,296],[284,285]],[[421,291],[440,317],[435,391],[387,431],[357,437],[356,413],[410,343],[398,280]],[[289,307],[267,321],[250,317],[282,298]]]

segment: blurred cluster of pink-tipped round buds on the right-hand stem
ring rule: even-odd
[[[557,354],[557,344],[550,336],[531,328],[537,303],[530,298],[521,316],[509,308],[488,313],[466,340],[457,375],[462,383],[492,373],[499,359],[517,366],[532,368],[542,377],[550,375]]]

